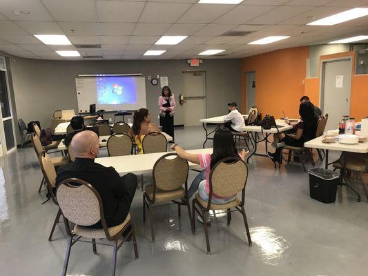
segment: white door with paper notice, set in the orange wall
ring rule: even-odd
[[[322,62],[322,113],[328,113],[326,130],[338,128],[342,116],[349,115],[351,92],[351,59]]]

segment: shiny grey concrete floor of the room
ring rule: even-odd
[[[204,131],[200,126],[177,129],[175,140],[187,149],[201,148]],[[195,172],[189,177],[191,182]],[[0,275],[61,274],[64,224],[48,242],[57,207],[52,201],[41,205],[46,190],[37,193],[40,181],[31,146],[0,159]],[[322,204],[309,197],[308,175],[300,164],[275,169],[269,159],[253,157],[246,186],[253,246],[246,243],[240,214],[233,213],[231,226],[217,215],[209,227],[212,254],[206,255],[202,226],[196,223],[193,236],[185,209],[179,219],[176,206],[154,209],[152,244],[149,224],[142,223],[142,192],[137,190],[131,215],[139,259],[133,259],[132,244],[124,244],[116,275],[367,275],[368,204],[362,199],[356,202],[343,187],[336,203]],[[90,244],[75,244],[68,275],[109,275],[112,248],[97,246],[97,251],[93,255]]]

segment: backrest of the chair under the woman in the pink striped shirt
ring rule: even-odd
[[[219,197],[232,197],[242,191],[242,204],[244,204],[244,190],[248,168],[245,162],[239,157],[226,157],[218,161],[211,169],[210,173],[210,193]]]

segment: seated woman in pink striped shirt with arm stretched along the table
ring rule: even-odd
[[[240,153],[235,148],[235,143],[233,140],[233,135],[229,128],[221,127],[216,130],[215,135],[213,136],[213,154],[204,153],[204,154],[193,154],[188,153],[177,144],[171,147],[173,150],[177,152],[177,155],[182,159],[186,159],[195,164],[200,164],[201,168],[205,169],[206,178],[202,181],[197,181],[197,177],[193,180],[191,184],[191,188],[189,189],[191,193],[188,193],[188,197],[193,195],[193,191],[196,189],[200,197],[204,200],[209,199],[209,175],[211,172],[211,168],[215,166],[215,164],[225,157],[240,157],[242,160],[245,159],[245,155],[247,151],[242,150]],[[200,172],[198,177],[202,176],[203,172]],[[197,187],[196,187],[197,186]],[[229,201],[233,201],[236,195],[232,197],[218,197],[213,193],[211,202],[214,204],[226,204]],[[202,219],[198,216],[198,220],[202,222]],[[209,222],[209,216],[206,215],[206,221]]]

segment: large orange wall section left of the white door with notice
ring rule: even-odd
[[[255,106],[262,115],[299,117],[302,81],[307,75],[309,47],[288,48],[243,59],[242,112],[246,111],[246,72],[255,71]]]

